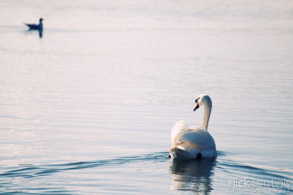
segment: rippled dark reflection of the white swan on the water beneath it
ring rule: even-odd
[[[198,160],[170,159],[169,173],[172,174],[171,189],[210,194],[216,158]]]

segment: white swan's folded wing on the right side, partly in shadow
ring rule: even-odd
[[[201,150],[215,149],[216,144],[214,138],[207,130],[200,127],[187,129],[177,135],[177,142],[191,142],[200,146]]]

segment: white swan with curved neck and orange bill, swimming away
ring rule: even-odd
[[[195,100],[196,111],[204,106],[204,118],[201,127],[188,128],[185,121],[181,120],[171,130],[172,146],[169,148],[169,158],[198,159],[201,157],[213,158],[217,156],[216,144],[208,132],[208,124],[212,111],[212,100],[206,94],[199,95]]]

